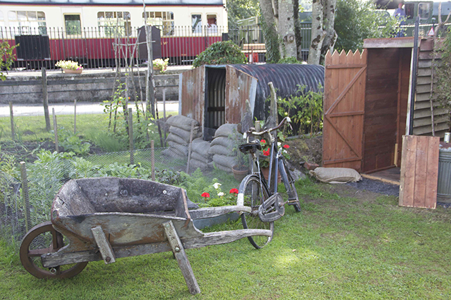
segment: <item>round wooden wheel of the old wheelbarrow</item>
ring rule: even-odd
[[[70,278],[83,271],[85,263],[43,267],[41,255],[57,252],[65,246],[64,237],[56,231],[51,222],[36,225],[26,233],[20,245],[20,261],[30,274],[37,278]]]

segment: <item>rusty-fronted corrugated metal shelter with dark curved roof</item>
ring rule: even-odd
[[[324,85],[324,67],[309,64],[205,65],[185,71],[179,80],[179,114],[203,127],[204,139],[224,123],[240,123],[249,100],[253,118],[269,113],[269,86],[286,98],[299,87],[318,91]]]

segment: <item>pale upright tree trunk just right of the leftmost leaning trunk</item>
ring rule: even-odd
[[[279,0],[279,37],[282,58],[296,58],[296,38],[294,36],[293,2]]]

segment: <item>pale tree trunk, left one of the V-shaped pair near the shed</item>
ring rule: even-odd
[[[323,11],[325,0],[313,0],[312,3],[312,40],[309,47],[309,64],[319,64],[321,47],[325,37],[323,30]],[[332,24],[333,26],[333,24]]]

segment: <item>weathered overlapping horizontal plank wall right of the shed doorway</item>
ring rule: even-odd
[[[416,99],[414,112],[414,134],[432,135],[430,91],[432,82],[432,55],[434,40],[432,37],[422,39],[418,53],[418,78],[416,85]],[[436,54],[435,63],[440,63],[441,55]],[[434,80],[436,82],[436,80]],[[433,96],[436,99],[436,96]],[[448,131],[449,115],[446,109],[440,108],[439,103],[434,101],[434,123],[435,135],[441,136]]]

